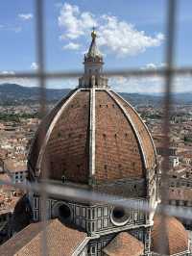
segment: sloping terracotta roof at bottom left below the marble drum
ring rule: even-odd
[[[33,223],[0,246],[1,256],[42,255],[42,225]],[[58,219],[49,220],[46,228],[48,254],[71,256],[86,239],[86,234],[64,226]]]

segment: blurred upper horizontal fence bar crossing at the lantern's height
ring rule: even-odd
[[[171,72],[172,75],[192,75],[192,67],[172,67],[172,68],[157,68],[153,69],[115,69],[104,71],[104,75],[108,77],[114,76],[125,76],[125,77],[146,77],[146,76],[165,76],[165,74]],[[60,71],[60,72],[17,72],[15,74],[0,74],[0,80],[12,79],[12,78],[30,78],[39,79],[43,77],[44,79],[61,79],[61,78],[78,78],[83,75],[82,71]]]

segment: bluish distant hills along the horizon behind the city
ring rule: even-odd
[[[48,102],[56,102],[64,97],[70,89],[46,89]],[[120,93],[132,105],[158,105],[162,103],[162,94]],[[36,103],[39,100],[39,88],[22,87],[16,84],[0,85],[0,105],[17,105]],[[175,93],[174,100],[180,104],[192,104],[192,92]]]

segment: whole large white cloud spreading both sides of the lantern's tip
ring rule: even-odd
[[[63,29],[62,40],[73,40],[88,37],[93,26],[98,27],[98,44],[106,47],[109,52],[125,57],[144,52],[149,47],[159,46],[164,36],[148,36],[144,31],[138,31],[126,21],[112,15],[94,15],[82,12],[78,6],[63,4],[58,18],[59,26]]]

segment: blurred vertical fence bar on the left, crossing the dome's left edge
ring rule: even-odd
[[[44,1],[43,0],[36,0],[36,58],[37,58],[37,79],[39,83],[40,88],[40,115],[43,116],[46,112],[46,84],[45,84],[45,41],[44,41]],[[40,134],[39,143],[42,141],[44,131]],[[43,171],[43,180],[47,180],[47,169],[45,167],[45,170]],[[46,211],[46,202],[47,202],[47,193],[44,190],[44,187],[46,184],[42,182],[41,184],[41,203],[40,203],[40,214],[41,214],[41,223],[42,223],[42,255],[47,256],[49,255],[48,252],[48,246],[47,246],[47,227],[46,227],[46,221],[47,221],[47,211]]]

